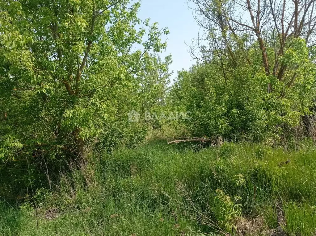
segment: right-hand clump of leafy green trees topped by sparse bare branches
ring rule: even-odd
[[[202,31],[191,45],[199,63],[179,72],[171,95],[192,112],[191,133],[279,142],[301,121],[308,131],[316,97],[315,1],[189,2]]]

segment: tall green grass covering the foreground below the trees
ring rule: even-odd
[[[238,204],[247,221],[264,218],[261,230],[277,227],[282,209],[286,233],[313,235],[315,158],[308,147],[286,151],[225,143],[190,150],[164,141],[95,154],[87,168],[64,174],[58,191],[38,200],[38,228],[33,208],[2,203],[0,235],[234,233],[229,225],[240,219]],[[219,198],[216,189],[230,200]],[[59,210],[53,219],[43,218],[54,208]]]

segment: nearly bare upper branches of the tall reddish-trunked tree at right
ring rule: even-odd
[[[291,68],[282,58],[287,48],[293,47],[294,38],[304,38],[309,48],[316,45],[315,0],[190,2],[195,10],[195,20],[203,29],[203,36],[197,39],[197,47],[204,58],[207,55],[208,58],[218,57],[219,65],[229,73],[229,67],[241,62],[253,64],[249,52],[257,49],[261,53],[260,66],[266,76],[276,77],[288,87],[294,86],[296,74],[289,76]],[[202,46],[205,41],[209,47]],[[191,52],[197,56],[194,48]],[[229,64],[223,63],[223,60]]]

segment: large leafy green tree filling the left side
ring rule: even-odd
[[[145,55],[166,47],[167,28],[147,19],[148,30],[137,30],[139,7],[129,0],[1,3],[0,157],[85,162],[84,147],[132,99]]]

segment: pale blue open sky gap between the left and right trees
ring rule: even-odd
[[[182,68],[188,70],[195,63],[192,60],[189,47],[193,38],[197,38],[199,27],[194,21],[192,10],[188,9],[187,0],[141,0],[138,17],[142,20],[150,18],[150,22],[158,22],[160,28],[168,27],[168,45],[161,58],[172,54],[173,63],[170,71],[172,79]]]

